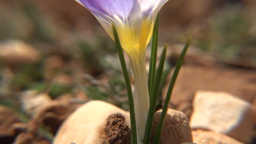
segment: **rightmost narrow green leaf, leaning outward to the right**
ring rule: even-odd
[[[176,81],[176,79],[178,77],[178,74],[179,74],[179,71],[180,71],[183,59],[185,58],[185,55],[187,53],[190,41],[191,41],[191,38],[189,38],[187,44],[185,45],[183,51],[181,52],[180,57],[179,57],[178,62],[177,62],[177,65],[176,65],[176,67],[175,67],[175,69],[173,71],[172,79],[171,79],[170,85],[168,87],[168,91],[167,91],[166,98],[165,98],[165,101],[164,101],[164,107],[163,107],[163,110],[162,110],[162,114],[161,114],[161,117],[159,119],[159,122],[158,122],[158,125],[157,125],[157,128],[156,128],[156,133],[155,133],[153,144],[158,144],[159,141],[160,141],[162,130],[163,130],[163,126],[164,126],[165,116],[167,114],[167,109],[168,109],[168,106],[169,106],[169,101],[171,99],[172,90],[173,90],[175,81]]]

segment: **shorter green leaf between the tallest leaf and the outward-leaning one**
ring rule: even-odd
[[[163,73],[163,69],[164,69],[166,49],[167,49],[167,45],[164,46],[164,50],[161,54],[161,59],[160,59],[159,65],[157,67],[157,72],[156,72],[156,77],[155,77],[154,87],[153,87],[152,97],[151,97],[152,99],[150,100],[150,105],[149,105],[147,125],[146,125],[146,129],[145,129],[145,136],[144,136],[144,141],[143,141],[144,144],[149,143],[150,138],[151,138],[151,130],[153,127],[153,118],[154,118],[155,109],[156,109],[157,95],[159,93],[161,77],[162,77],[162,73]]]

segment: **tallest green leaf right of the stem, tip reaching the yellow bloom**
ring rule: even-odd
[[[153,85],[156,74],[156,57],[157,57],[157,45],[158,45],[158,23],[159,17],[157,15],[155,27],[152,36],[152,46],[151,46],[151,55],[150,55],[150,63],[149,63],[149,73],[148,73],[148,90],[149,90],[149,100],[152,97]]]

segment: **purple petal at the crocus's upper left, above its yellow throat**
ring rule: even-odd
[[[76,0],[92,13],[108,15],[111,18],[118,16],[121,19],[129,17],[135,0]]]

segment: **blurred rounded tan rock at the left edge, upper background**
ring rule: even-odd
[[[35,47],[17,39],[0,43],[0,51],[0,58],[12,64],[36,62],[40,58]]]

